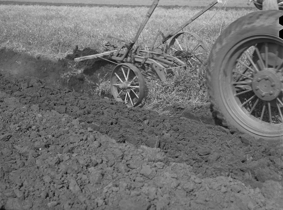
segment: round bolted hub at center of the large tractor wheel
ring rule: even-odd
[[[271,101],[278,97],[281,92],[280,75],[275,73],[274,68],[267,68],[254,74],[252,88],[258,98]]]

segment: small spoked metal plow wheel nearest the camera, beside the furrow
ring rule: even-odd
[[[135,107],[145,96],[145,81],[138,68],[132,64],[119,64],[111,73],[111,91],[116,101]]]

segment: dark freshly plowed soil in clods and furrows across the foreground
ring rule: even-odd
[[[279,142],[94,98],[75,53],[0,50],[0,209],[282,209]]]

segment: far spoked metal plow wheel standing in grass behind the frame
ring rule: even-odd
[[[176,34],[168,46],[169,55],[173,55],[193,66],[194,62],[204,64],[207,46],[198,35],[192,32]]]

